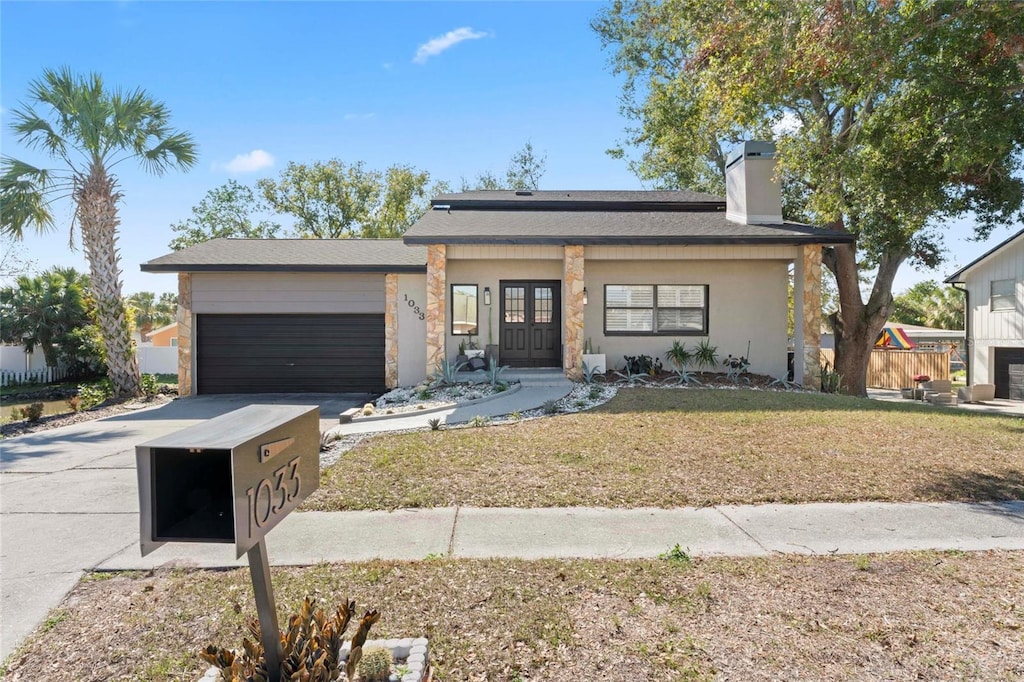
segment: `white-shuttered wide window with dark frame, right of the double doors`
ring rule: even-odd
[[[604,332],[708,334],[707,285],[605,285]]]

